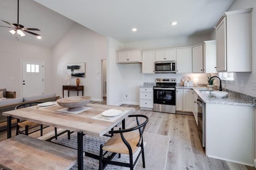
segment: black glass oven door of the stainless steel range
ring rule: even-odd
[[[154,87],[154,104],[176,105],[175,88]]]

